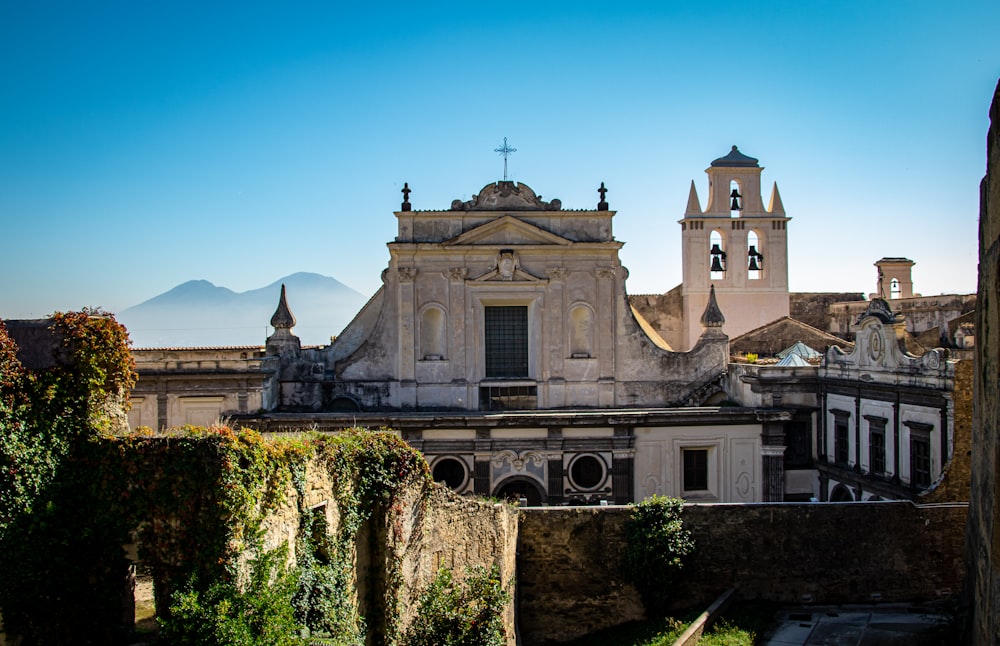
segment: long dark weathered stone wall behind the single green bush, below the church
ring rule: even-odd
[[[676,591],[699,606],[730,587],[786,603],[927,600],[957,593],[963,504],[909,502],[688,505],[695,540]],[[619,571],[627,507],[524,509],[518,623],[526,646],[638,619]],[[808,597],[806,597],[808,595]]]

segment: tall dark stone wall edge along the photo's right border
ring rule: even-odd
[[[1000,84],[990,108],[986,177],[980,187],[979,293],[967,559],[971,642],[1000,642]]]

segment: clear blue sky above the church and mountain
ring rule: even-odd
[[[695,180],[778,183],[793,291],[976,289],[1000,2],[0,0],[0,318],[310,271],[368,295],[393,211],[608,186],[630,293]],[[294,294],[290,294],[294,311]]]

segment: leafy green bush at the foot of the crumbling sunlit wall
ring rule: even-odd
[[[503,646],[504,613],[509,586],[494,565],[468,568],[464,582],[455,582],[442,568],[420,597],[417,618],[407,631],[406,646]]]

